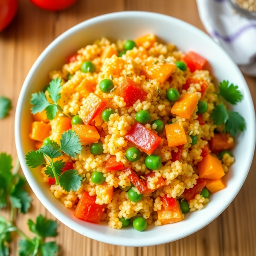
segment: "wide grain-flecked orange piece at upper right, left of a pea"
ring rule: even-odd
[[[160,84],[164,82],[172,75],[176,65],[163,62],[157,62],[148,66],[143,66],[143,75],[147,79],[159,81]]]

